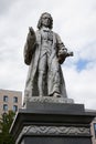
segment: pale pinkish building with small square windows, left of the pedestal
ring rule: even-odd
[[[22,92],[0,90],[0,115],[12,110],[17,112],[22,107]]]

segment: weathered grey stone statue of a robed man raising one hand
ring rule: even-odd
[[[38,31],[29,28],[24,45],[24,62],[29,65],[24,101],[31,96],[67,97],[61,64],[73,52],[67,52],[52,27],[51,14],[44,12],[40,17]]]

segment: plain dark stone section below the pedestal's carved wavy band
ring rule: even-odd
[[[90,138],[84,137],[24,137],[21,144],[92,144]]]

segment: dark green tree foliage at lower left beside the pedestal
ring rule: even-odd
[[[9,113],[2,114],[0,119],[0,144],[14,144],[13,137],[9,133],[14,114],[12,111],[9,111]]]

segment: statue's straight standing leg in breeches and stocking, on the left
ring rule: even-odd
[[[39,61],[39,96],[44,96],[46,78],[46,54],[43,54]]]

